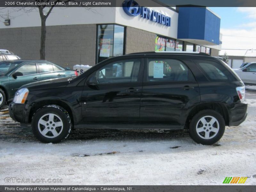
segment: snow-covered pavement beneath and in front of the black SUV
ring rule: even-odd
[[[248,177],[245,184],[255,185],[256,92],[247,94],[246,121],[226,127],[212,146],[196,144],[186,131],[117,130],[76,130],[62,143],[44,144],[1,110],[0,185],[13,184],[6,177],[65,185],[221,185],[225,177]]]

